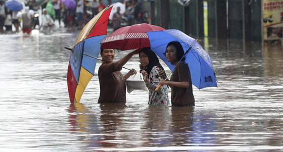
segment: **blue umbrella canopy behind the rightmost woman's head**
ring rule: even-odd
[[[147,34],[150,39],[151,49],[165,62],[170,70],[174,69],[174,65],[166,60],[166,46],[171,41],[179,41],[183,46],[184,52],[189,49],[185,56],[185,62],[190,68],[192,83],[199,89],[212,86],[217,87],[210,57],[196,39],[176,29],[147,32]]]

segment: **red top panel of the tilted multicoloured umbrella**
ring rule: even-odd
[[[109,20],[109,15],[112,10],[112,7],[107,9],[99,18],[92,31],[86,37],[98,36],[98,35],[107,35],[107,25]]]

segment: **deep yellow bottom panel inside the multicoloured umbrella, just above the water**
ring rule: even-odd
[[[75,94],[75,99],[77,103],[79,103],[79,100],[83,94],[83,91],[86,88],[88,82],[90,81],[92,77],[93,75],[91,73],[89,73],[83,67],[80,68],[79,83],[78,83],[76,94]]]

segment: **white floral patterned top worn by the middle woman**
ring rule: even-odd
[[[149,81],[146,86],[149,89],[149,105],[169,105],[168,87],[163,85],[157,92],[155,88],[159,85],[161,78],[158,76],[159,67],[154,66],[150,72]]]

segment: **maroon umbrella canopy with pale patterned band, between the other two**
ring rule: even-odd
[[[160,30],[164,30],[164,28],[147,23],[122,27],[108,35],[102,41],[101,47],[120,50],[150,47],[146,32]]]

